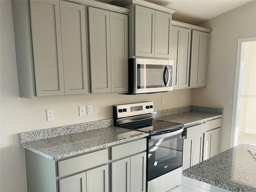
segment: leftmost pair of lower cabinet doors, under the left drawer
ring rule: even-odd
[[[59,180],[60,192],[108,192],[108,165]]]

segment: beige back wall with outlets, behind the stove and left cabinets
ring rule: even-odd
[[[19,97],[12,7],[10,1],[1,6],[1,192],[26,192],[24,150],[18,146],[18,133],[112,118],[112,105],[129,102],[153,101],[155,110],[191,104],[191,89],[167,93],[87,94],[52,98],[25,99]],[[180,102],[180,94],[184,102]],[[166,104],[161,105],[161,97]],[[78,106],[92,104],[93,114],[78,116]],[[46,121],[48,108],[54,109],[54,121]]]

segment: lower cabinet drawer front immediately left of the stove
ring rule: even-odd
[[[115,160],[146,150],[146,138],[112,147],[111,159]]]

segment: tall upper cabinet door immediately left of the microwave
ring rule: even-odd
[[[111,91],[128,91],[128,16],[110,12]]]

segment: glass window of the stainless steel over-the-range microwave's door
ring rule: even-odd
[[[158,88],[165,87],[163,74],[165,65],[137,65],[137,88]],[[166,73],[166,79],[168,74]]]

